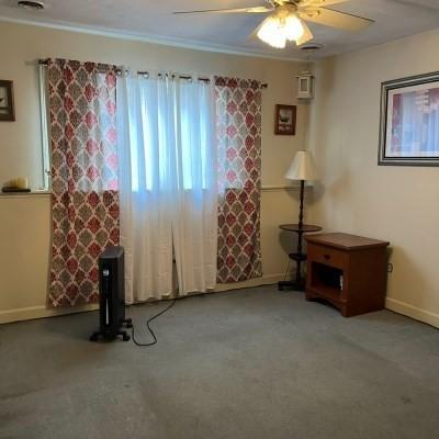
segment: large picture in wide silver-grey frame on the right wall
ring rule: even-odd
[[[378,164],[439,166],[439,72],[381,85]]]

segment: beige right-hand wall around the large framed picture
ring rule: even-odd
[[[323,176],[311,216],[392,243],[387,307],[439,326],[439,168],[378,166],[380,85],[439,70],[439,32],[315,66],[309,145]]]

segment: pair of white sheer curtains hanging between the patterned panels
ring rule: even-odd
[[[127,303],[205,292],[216,279],[212,87],[121,78],[117,83],[121,244]]]

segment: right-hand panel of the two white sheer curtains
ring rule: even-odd
[[[172,230],[179,291],[216,284],[217,185],[213,88],[175,82],[177,97],[177,192]]]

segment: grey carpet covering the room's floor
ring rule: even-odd
[[[131,307],[142,322],[166,303]],[[342,318],[274,286],[177,302],[159,342],[91,344],[97,313],[0,326],[0,438],[434,439],[439,331]]]

